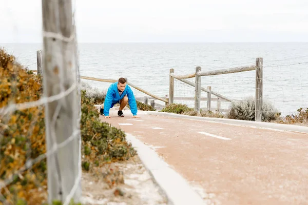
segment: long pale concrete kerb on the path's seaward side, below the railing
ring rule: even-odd
[[[218,122],[222,124],[237,125],[237,126],[248,126],[248,127],[263,128],[263,129],[264,128],[265,129],[275,129],[275,130],[282,130],[282,131],[300,132],[300,133],[305,133],[305,134],[308,133],[308,127],[305,127],[305,126],[284,125],[284,124],[276,124],[273,122],[257,122],[257,121],[248,121],[248,120],[239,120],[239,119],[215,118],[215,117],[197,117],[197,116],[180,115],[176,113],[167,113],[167,112],[158,112],[158,111],[148,111],[147,114],[181,118],[181,119],[198,120],[198,121]]]

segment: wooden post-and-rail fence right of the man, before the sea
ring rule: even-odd
[[[255,65],[249,65],[249,66],[241,66],[236,68],[230,68],[230,69],[221,69],[221,70],[215,70],[215,71],[201,71],[201,67],[196,67],[196,72],[186,75],[176,75],[174,73],[174,69],[170,69],[169,73],[169,104],[174,103],[174,100],[176,99],[174,97],[174,83],[175,79],[182,81],[183,83],[186,83],[192,87],[195,87],[195,110],[197,111],[198,115],[200,114],[200,101],[201,101],[201,91],[207,92],[207,110],[211,110],[210,103],[213,101],[213,98],[211,98],[211,94],[217,96],[216,100],[218,101],[217,109],[220,108],[219,101],[221,99],[224,99],[226,101],[232,102],[233,99],[223,96],[217,92],[214,92],[211,90],[211,87],[203,88],[201,86],[201,77],[202,76],[209,76],[209,75],[222,75],[222,74],[229,74],[229,73],[238,73],[238,72],[246,72],[246,71],[253,71],[256,70],[256,109],[255,109],[255,120],[256,121],[262,121],[262,104],[263,104],[263,58],[259,57],[256,58],[256,64]],[[190,82],[189,80],[186,80],[187,78],[195,77],[195,84]]]

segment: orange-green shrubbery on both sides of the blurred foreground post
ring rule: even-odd
[[[0,185],[12,177],[9,185],[0,190],[0,204],[42,204],[47,200],[46,159],[19,175],[15,173],[28,160],[46,153],[44,106],[1,114],[1,109],[10,104],[40,99],[42,78],[26,71],[1,48],[0,75]],[[83,90],[80,129],[84,171],[136,155],[123,131],[99,120],[93,101],[95,98]]]

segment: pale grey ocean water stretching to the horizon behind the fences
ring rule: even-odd
[[[29,69],[36,69],[36,50],[42,44],[0,44]],[[263,99],[282,115],[308,107],[308,43],[80,43],[83,76],[128,80],[158,96],[169,93],[169,69],[176,74],[254,65],[263,57]],[[233,99],[255,95],[255,71],[203,76],[202,87]],[[194,78],[189,79],[194,81]],[[83,80],[106,90],[110,83]],[[137,97],[145,94],[134,90]],[[175,80],[175,97],[194,97],[194,88]],[[202,93],[206,97],[206,93]],[[215,97],[215,96],[213,96]],[[157,100],[156,103],[164,104]],[[190,107],[194,101],[176,101]],[[216,106],[213,102],[212,106]],[[222,103],[227,108],[229,103]],[[206,107],[206,102],[201,102]]]

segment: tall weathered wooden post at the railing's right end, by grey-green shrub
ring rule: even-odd
[[[263,58],[256,58],[256,111],[255,121],[262,121],[263,105]]]

